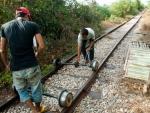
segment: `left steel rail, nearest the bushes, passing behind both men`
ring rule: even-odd
[[[134,18],[134,17],[133,17]],[[133,19],[131,18],[131,19]],[[131,20],[130,19],[130,20]],[[124,24],[126,24],[127,22],[129,22],[130,20],[121,23],[120,25],[116,26],[115,28],[113,28],[112,30],[108,31],[107,33],[103,34],[102,36],[98,37],[95,39],[95,43],[97,41],[99,41],[100,39],[104,38],[105,36],[109,35],[110,33],[114,32],[115,30],[117,30],[118,28],[120,28],[121,26],[123,26]],[[77,53],[75,53],[74,55],[72,55],[71,57],[69,57],[67,60],[65,60],[64,62],[70,62],[72,59],[74,59],[77,56]],[[49,74],[47,74],[46,76],[44,76],[41,80],[41,82],[44,84],[45,81],[49,78],[52,77],[55,73],[57,73],[57,71],[59,69],[61,69],[63,67],[60,66],[57,69],[54,69],[52,72],[50,72]],[[7,101],[5,101],[3,104],[0,104],[0,111],[3,111],[4,109],[8,108],[9,106],[11,106],[12,104],[15,103],[16,100],[19,99],[19,96],[17,94],[14,94],[12,97],[10,97]]]

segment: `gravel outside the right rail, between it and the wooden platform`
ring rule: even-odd
[[[134,32],[134,29],[131,32]],[[129,90],[125,84],[126,80],[123,78],[123,66],[129,43],[132,40],[131,38],[133,38],[131,34],[129,33],[122,40],[113,55],[105,62],[92,88],[75,108],[74,113],[139,113],[138,110],[131,110],[136,103],[133,101],[139,100],[140,97],[140,101],[145,101],[145,103],[149,102],[146,98],[142,99],[143,96],[137,94],[137,90]],[[110,37],[113,38],[114,34],[110,34]]]

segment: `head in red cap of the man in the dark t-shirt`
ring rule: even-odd
[[[31,19],[30,11],[26,7],[19,7],[16,9],[16,17],[26,17]]]

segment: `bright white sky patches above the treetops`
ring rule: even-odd
[[[80,3],[85,3],[85,1],[90,1],[90,0],[77,0],[78,2]],[[107,5],[110,5],[111,3],[115,2],[117,0],[96,0],[96,2],[100,5],[104,5],[104,4],[107,4]],[[150,1],[150,0],[141,0],[142,3],[146,4],[147,1]]]

